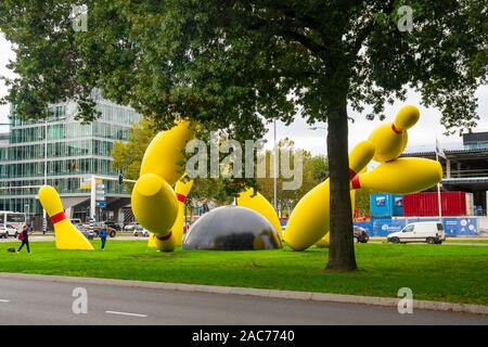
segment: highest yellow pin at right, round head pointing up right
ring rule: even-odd
[[[394,123],[383,124],[373,130],[369,138],[375,146],[373,159],[384,163],[398,158],[407,146],[407,130],[416,124],[419,117],[419,108],[408,105],[398,112]]]

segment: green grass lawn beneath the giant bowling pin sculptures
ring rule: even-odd
[[[93,244],[99,247],[100,243]],[[0,272],[64,274],[396,297],[488,305],[488,247],[359,244],[359,270],[325,272],[328,249],[157,253],[144,241],[107,241],[105,252],[55,250],[31,243],[33,254],[0,244]],[[16,243],[15,245],[18,245]]]

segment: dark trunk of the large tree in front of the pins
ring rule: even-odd
[[[347,99],[330,110],[328,131],[331,180],[331,244],[326,270],[357,269],[352,242],[352,214],[349,190]]]

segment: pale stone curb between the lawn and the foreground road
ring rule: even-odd
[[[248,295],[257,297],[269,297],[280,299],[294,300],[312,300],[312,301],[328,301],[338,304],[360,304],[374,305],[384,307],[397,307],[398,298],[376,297],[376,296],[360,296],[360,295],[343,295],[343,294],[328,294],[316,292],[295,292],[295,291],[277,291],[277,290],[259,290],[234,286],[216,286],[203,284],[184,284],[184,283],[166,283],[166,282],[146,282],[132,280],[112,280],[112,279],[97,279],[97,278],[77,278],[63,275],[46,275],[46,274],[27,274],[27,273],[8,273],[0,272],[1,279],[12,280],[36,280],[44,282],[60,282],[60,283],[82,283],[82,284],[98,284],[98,285],[114,285],[120,287],[138,287],[149,290],[164,290],[164,291],[179,291],[189,293],[208,293],[208,294],[232,294],[232,295]],[[420,310],[434,310],[445,312],[461,312],[473,314],[488,314],[488,306],[471,305],[471,304],[453,304],[442,301],[428,300],[413,300],[413,308]]]

